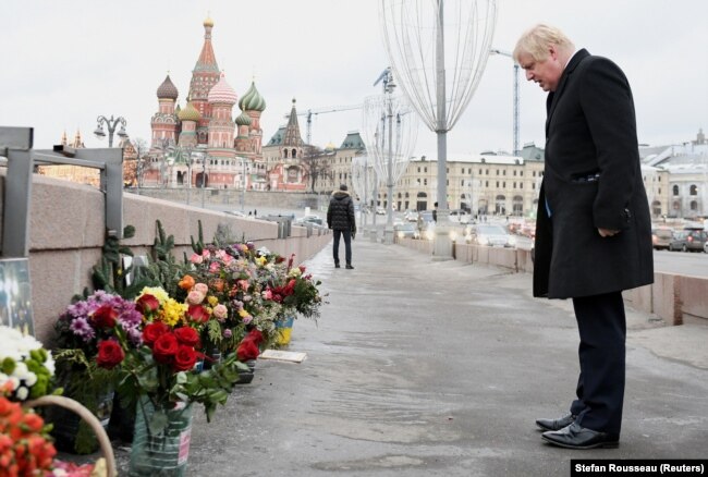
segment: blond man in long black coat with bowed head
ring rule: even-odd
[[[622,291],[654,282],[632,90],[617,64],[576,50],[551,26],[526,32],[514,59],[526,80],[548,91],[534,296],[572,298],[581,338],[576,400],[567,415],[536,424],[554,445],[617,448],[625,370]]]

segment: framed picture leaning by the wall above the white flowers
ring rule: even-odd
[[[0,259],[0,323],[35,334],[27,258]]]

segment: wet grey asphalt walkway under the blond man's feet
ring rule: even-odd
[[[571,458],[708,456],[708,325],[628,310],[620,448],[564,450],[534,420],[574,396],[569,302],[533,298],[529,274],[398,245],[355,241],[355,270],[330,249],[306,264],[329,302],[295,322],[289,348],[307,359],[258,360],[211,424],[195,409],[187,475],[546,477]]]

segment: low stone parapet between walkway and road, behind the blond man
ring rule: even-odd
[[[398,238],[396,243],[427,254],[430,241]],[[469,264],[485,264],[515,272],[533,272],[530,250],[455,244],[454,257]],[[708,278],[656,272],[654,284],[628,290],[624,301],[633,308],[655,314],[671,325],[708,325]]]

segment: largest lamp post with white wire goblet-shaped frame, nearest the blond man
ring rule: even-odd
[[[485,71],[497,22],[497,2],[380,0],[380,13],[395,78],[423,122],[438,135],[435,255],[439,259],[452,258],[447,134],[469,103]]]

